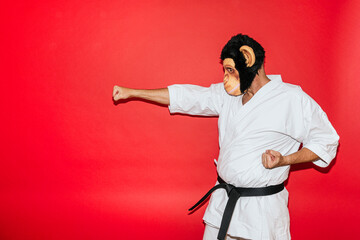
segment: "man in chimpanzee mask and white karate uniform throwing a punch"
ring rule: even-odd
[[[208,193],[206,240],[290,239],[283,186],[290,165],[326,167],[336,155],[339,136],[326,114],[300,87],[266,75],[264,58],[259,43],[239,34],[221,52],[223,83],[113,90],[115,101],[137,97],[169,105],[171,113],[219,116],[219,177]]]

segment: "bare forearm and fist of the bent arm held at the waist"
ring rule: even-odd
[[[262,155],[262,164],[265,168],[275,168],[296,163],[313,162],[319,159],[319,156],[307,148],[282,156],[281,153],[274,150],[266,150]]]

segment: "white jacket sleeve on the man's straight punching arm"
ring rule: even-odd
[[[210,87],[196,85],[171,85],[170,113],[189,115],[219,116],[225,93],[223,83],[212,84]]]

